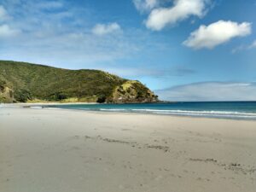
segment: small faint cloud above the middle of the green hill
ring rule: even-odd
[[[110,23],[110,24],[96,24],[91,30],[91,32],[95,35],[106,35],[113,32],[119,32],[121,27],[117,23]]]

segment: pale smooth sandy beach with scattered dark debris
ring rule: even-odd
[[[255,192],[256,121],[0,108],[1,192]]]

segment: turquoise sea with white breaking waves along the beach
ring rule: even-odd
[[[256,102],[173,102],[142,104],[67,104],[47,108],[115,113],[156,113],[224,119],[256,119]]]

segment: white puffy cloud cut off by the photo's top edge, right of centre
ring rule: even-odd
[[[154,31],[160,31],[165,26],[174,25],[189,16],[201,17],[206,13],[207,2],[209,0],[174,0],[171,8],[153,9],[146,20],[146,26]]]

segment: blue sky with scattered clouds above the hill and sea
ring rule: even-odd
[[[100,69],[168,101],[256,101],[256,0],[0,0],[0,60]]]

